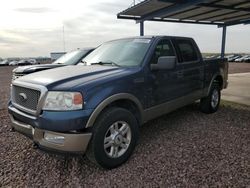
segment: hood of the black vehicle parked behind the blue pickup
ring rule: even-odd
[[[63,67],[64,64],[42,64],[42,65],[29,65],[29,66],[20,66],[13,70],[15,73],[24,73],[29,74],[33,72],[38,72],[42,70],[57,68],[57,67]]]

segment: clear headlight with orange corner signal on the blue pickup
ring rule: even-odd
[[[79,110],[82,106],[83,97],[79,92],[50,91],[45,99],[43,110]]]

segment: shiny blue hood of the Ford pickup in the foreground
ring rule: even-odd
[[[124,72],[125,68],[113,66],[64,66],[57,69],[45,70],[20,77],[16,81],[28,82],[32,84],[54,87],[64,85],[64,87],[73,88],[76,85],[87,83],[92,80],[104,78],[113,74]],[[14,81],[15,83],[15,81]],[[57,89],[60,89],[57,87]]]

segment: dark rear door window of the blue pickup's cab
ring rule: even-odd
[[[182,62],[197,61],[197,51],[190,40],[176,40],[177,48],[180,52]]]

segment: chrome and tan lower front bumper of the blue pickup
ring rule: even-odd
[[[58,133],[53,131],[33,128],[31,125],[17,121],[10,115],[12,127],[23,135],[30,137],[41,148],[59,152],[85,153],[91,139],[91,133]],[[45,135],[60,137],[60,143],[45,139]]]

